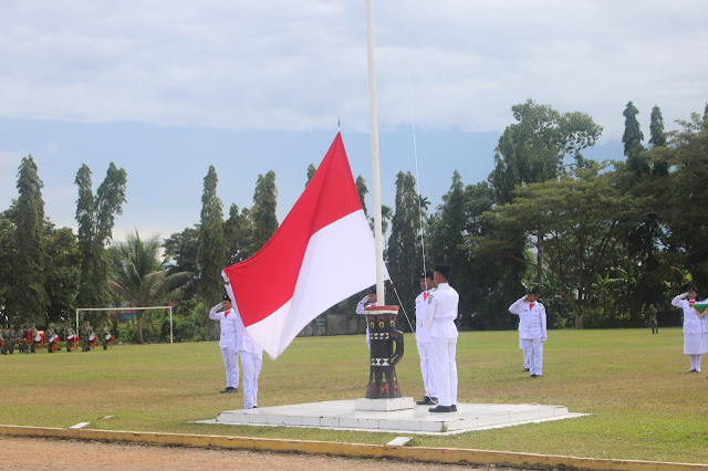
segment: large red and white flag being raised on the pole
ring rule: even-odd
[[[341,134],[273,237],[222,275],[246,331],[273,359],[313,318],[376,283],[374,236]]]

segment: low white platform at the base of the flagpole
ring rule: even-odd
[[[563,406],[538,404],[458,404],[457,412],[431,414],[428,412],[428,406],[393,411],[355,410],[354,402],[332,400],[227,410],[219,414],[216,420],[204,420],[201,423],[451,435],[584,416],[569,414]]]

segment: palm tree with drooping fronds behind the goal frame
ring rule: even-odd
[[[143,240],[136,230],[111,250],[113,273],[108,285],[134,307],[159,306],[175,301],[191,279],[189,272],[168,275],[159,262],[159,248],[157,236]],[[137,312],[137,343],[143,344],[143,311]]]

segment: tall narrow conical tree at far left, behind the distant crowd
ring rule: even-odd
[[[44,316],[49,297],[44,289],[44,201],[42,180],[31,155],[22,158],[18,171],[19,197],[14,216],[12,278],[6,311],[11,317],[37,322]]]

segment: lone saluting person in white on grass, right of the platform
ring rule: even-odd
[[[545,307],[538,302],[535,287],[509,306],[519,316],[519,335],[528,354],[527,366],[532,378],[543,375],[543,342],[546,341]]]

